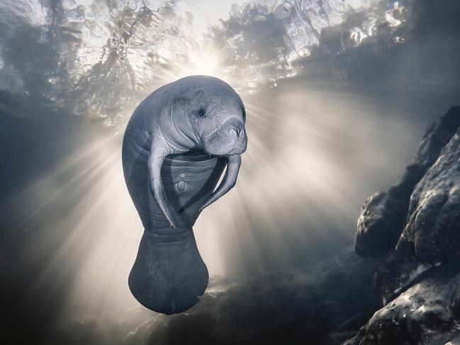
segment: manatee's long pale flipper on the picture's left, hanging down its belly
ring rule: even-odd
[[[173,221],[172,207],[168,203],[162,181],[162,164],[164,158],[172,153],[170,151],[167,142],[161,136],[157,135],[152,137],[152,148],[150,149],[147,167],[149,169],[150,191],[152,191],[153,198],[157,201],[158,207],[162,210],[169,225],[171,225],[171,227],[176,227]]]

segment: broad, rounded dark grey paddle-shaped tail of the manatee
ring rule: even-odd
[[[193,307],[206,290],[208,278],[193,231],[176,228],[174,235],[167,229],[162,233],[145,230],[128,283],[140,304],[171,315]]]

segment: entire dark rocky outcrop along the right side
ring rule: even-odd
[[[355,251],[386,254],[374,280],[388,304],[346,344],[453,339],[460,329],[460,107],[427,131],[400,183],[366,200]]]

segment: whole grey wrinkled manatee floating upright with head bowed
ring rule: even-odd
[[[245,107],[220,79],[179,79],[136,108],[123,138],[123,172],[145,228],[129,277],[145,307],[182,312],[203,295],[208,270],[192,226],[235,186],[246,147]]]

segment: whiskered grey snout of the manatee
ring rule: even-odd
[[[246,151],[245,124],[239,118],[228,118],[208,137],[203,138],[204,150],[215,156],[232,156]]]

